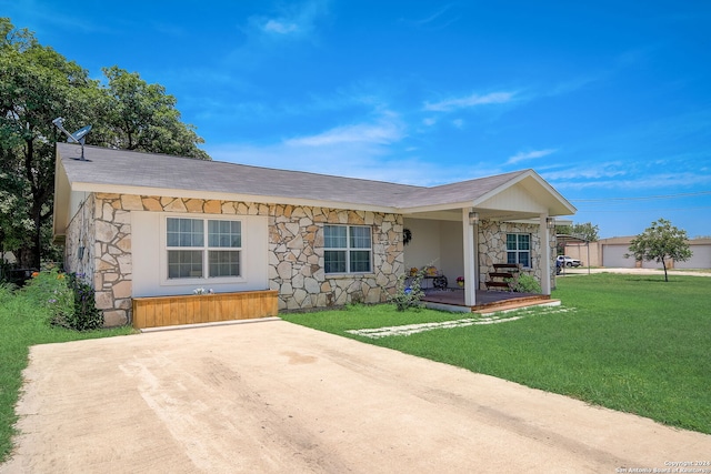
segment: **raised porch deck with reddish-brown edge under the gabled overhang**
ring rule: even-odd
[[[429,307],[467,313],[493,313],[540,304],[560,304],[560,301],[551,300],[545,294],[477,290],[477,304],[467,306],[464,290],[461,289],[428,289],[422,302]]]

